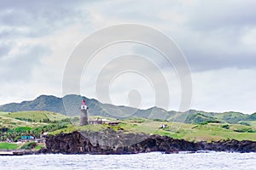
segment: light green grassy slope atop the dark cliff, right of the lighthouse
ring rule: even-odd
[[[165,129],[159,128],[163,123],[168,127]],[[108,127],[114,130],[123,130],[124,132],[142,132],[151,134],[160,134],[170,136],[176,139],[187,139],[189,141],[217,141],[221,139],[237,139],[237,140],[253,140],[256,141],[256,126],[245,126],[241,124],[230,124],[229,129],[222,127],[224,124],[208,123],[206,125],[200,124],[186,124],[179,122],[157,122],[144,118],[123,120],[119,126],[110,127],[108,125],[88,125],[84,127],[70,125],[67,128],[59,129],[52,134],[70,133],[75,130],[101,130]],[[254,133],[238,133],[247,128],[251,128]]]

